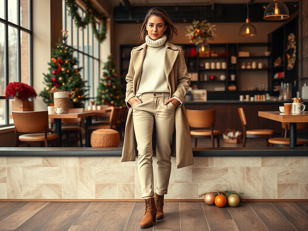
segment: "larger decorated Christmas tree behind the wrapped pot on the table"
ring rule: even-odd
[[[58,90],[74,91],[75,97],[70,99],[73,106],[84,107],[87,100],[86,81],[83,81],[79,71],[82,67],[77,68],[78,59],[73,57],[74,50],[67,46],[67,35],[61,36],[62,42],[56,43],[57,48],[51,50],[51,62],[49,62],[48,74],[43,74],[46,88],[40,92],[39,96],[43,102],[49,106],[53,102],[53,93],[51,88]]]

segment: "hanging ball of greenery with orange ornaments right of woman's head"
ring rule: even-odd
[[[193,20],[193,24],[186,26],[187,32],[186,37],[190,39],[192,43],[194,39],[196,39],[196,46],[199,43],[206,42],[208,39],[212,39],[215,36],[214,31],[216,25],[212,25],[206,20],[202,20],[201,22]]]

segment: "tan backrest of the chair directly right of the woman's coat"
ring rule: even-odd
[[[186,109],[189,127],[210,128],[215,125],[215,110]]]

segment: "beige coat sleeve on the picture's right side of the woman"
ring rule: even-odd
[[[189,88],[190,77],[187,73],[187,67],[183,54],[182,47],[179,48],[179,54],[177,58],[177,86],[173,96],[178,97],[182,101],[182,105],[185,103],[185,96]]]

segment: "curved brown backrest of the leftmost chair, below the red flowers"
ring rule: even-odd
[[[48,130],[48,111],[12,111],[17,132],[32,133]]]

